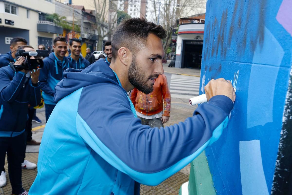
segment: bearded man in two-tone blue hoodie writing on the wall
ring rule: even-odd
[[[234,100],[224,79],[210,81],[209,103],[184,122],[150,128],[137,118],[127,92],[153,90],[164,72],[165,37],[160,25],[124,20],[113,35],[110,66],[100,59],[84,70],[65,70],[29,194],[136,195],[140,183],[161,183],[220,137]]]

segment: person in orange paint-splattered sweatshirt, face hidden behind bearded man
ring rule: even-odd
[[[171,101],[167,79],[164,74],[154,79],[153,89],[152,93],[144,94],[134,88],[130,99],[143,125],[163,127],[163,124],[169,119]]]

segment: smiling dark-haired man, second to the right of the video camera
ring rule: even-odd
[[[69,42],[71,54],[67,57],[70,60],[71,68],[84,69],[90,65],[89,61],[83,58],[81,54],[81,40],[71,39]]]

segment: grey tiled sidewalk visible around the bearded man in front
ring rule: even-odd
[[[174,125],[178,122],[184,121],[187,117],[192,116],[194,112],[194,108],[185,108],[183,106],[178,106],[175,104],[171,104],[171,113],[169,121],[165,124],[165,126]],[[33,128],[33,139],[36,141],[41,141],[41,137],[44,132],[45,125],[41,125],[39,127]],[[26,149],[26,160],[29,160],[33,163],[37,163],[38,156],[39,156],[39,146],[27,146]],[[0,188],[0,195],[11,195],[12,189],[11,184],[8,177],[8,165],[7,165],[7,158],[5,160],[5,170],[6,170],[6,177],[7,177],[7,184],[6,186]],[[141,195],[178,195],[180,186],[187,182],[189,179],[190,173],[190,164],[187,165],[185,168],[177,172],[172,177],[168,178],[164,182],[162,182],[158,186],[145,186],[141,185],[140,194]],[[37,169],[34,170],[22,170],[22,187],[25,190],[29,190],[34,179],[37,174]]]

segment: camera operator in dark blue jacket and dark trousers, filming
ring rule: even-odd
[[[32,46],[19,49],[34,51]],[[35,58],[30,56],[30,59]],[[14,65],[22,65],[25,60],[25,57],[19,57]],[[26,195],[21,182],[26,148],[25,126],[28,105],[37,106],[41,101],[39,70],[13,71],[14,65],[11,63],[0,68],[0,167],[4,166],[7,152],[12,194]]]

